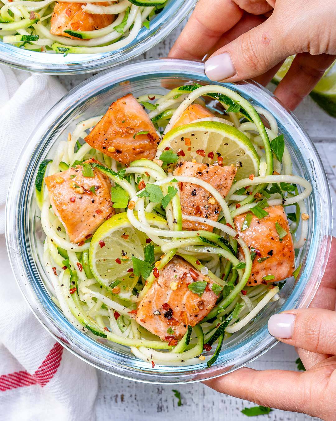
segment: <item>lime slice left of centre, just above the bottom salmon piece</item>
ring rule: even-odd
[[[165,228],[167,223],[160,216],[146,213],[151,225]],[[104,222],[92,237],[89,248],[89,265],[96,280],[108,290],[113,283],[121,288],[120,296],[129,293],[136,285],[138,277],[131,269],[134,255],[144,258],[147,235],[132,226],[127,213],[117,213]],[[120,281],[120,283],[115,282]]]

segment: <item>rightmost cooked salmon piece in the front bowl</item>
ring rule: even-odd
[[[240,237],[252,252],[257,253],[252,262],[251,276],[247,285],[266,285],[268,282],[281,281],[291,276],[295,267],[293,239],[283,207],[269,206],[265,210],[268,216],[258,219],[252,215],[251,224],[245,231],[241,231],[241,228],[247,214],[242,213],[234,218],[234,225]],[[282,239],[279,238],[276,230],[276,222],[287,232]],[[241,250],[239,250],[239,256],[241,260],[244,259],[244,253]],[[262,261],[264,258],[266,259]],[[267,275],[273,275],[274,279],[263,280],[262,278]]]

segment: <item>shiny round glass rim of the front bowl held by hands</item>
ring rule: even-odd
[[[54,107],[52,107],[49,112],[43,117],[42,121],[40,122],[40,125],[37,126],[37,129],[32,133],[29,140],[27,141],[25,147],[26,152],[18,159],[18,163],[16,164],[17,171],[13,174],[11,179],[11,187],[14,187],[13,189],[10,189],[8,192],[8,200],[6,204],[6,241],[7,241],[7,247],[8,247],[8,255],[10,256],[11,260],[11,266],[14,272],[14,275],[16,277],[16,280],[18,282],[18,285],[20,287],[21,292],[23,293],[26,301],[28,302],[29,306],[31,307],[32,311],[34,312],[35,316],[38,318],[38,320],[42,323],[42,325],[54,336],[54,338],[60,342],[63,346],[66,347],[66,349],[70,350],[73,354],[80,357],[82,360],[85,360],[89,364],[95,366],[96,368],[100,368],[101,370],[104,370],[108,373],[112,373],[116,376],[120,376],[123,378],[136,380],[136,381],[142,381],[147,383],[157,383],[157,384],[179,384],[179,383],[191,383],[195,381],[203,381],[205,379],[214,378],[221,376],[224,372],[230,372],[231,368],[226,370],[223,367],[214,367],[213,370],[207,369],[204,373],[204,370],[200,372],[201,374],[197,376],[196,378],[192,375],[185,375],[183,373],[183,368],[179,370],[179,368],[174,367],[178,371],[175,376],[172,376],[172,378],[168,378],[169,373],[167,376],[161,376],[162,373],[152,372],[152,370],[149,370],[146,368],[146,370],[138,369],[138,371],[134,371],[131,374],[129,374],[130,370],[125,370],[125,367],[122,368],[119,365],[113,366],[113,364],[108,364],[106,361],[97,361],[97,358],[95,356],[92,356],[90,353],[88,353],[86,350],[81,349],[80,346],[74,342],[74,336],[78,334],[81,334],[74,326],[68,322],[65,317],[63,316],[63,319],[61,320],[60,325],[63,327],[63,330],[58,329],[56,332],[55,325],[50,324],[50,320],[47,319],[46,315],[43,314],[42,309],[39,308],[37,305],[37,298],[34,296],[34,291],[32,290],[32,285],[29,284],[30,280],[28,279],[28,274],[24,270],[24,258],[21,254],[20,250],[20,244],[19,244],[19,237],[18,234],[20,232],[21,227],[18,226],[18,223],[20,222],[19,219],[19,213],[20,213],[20,207],[19,205],[22,204],[22,192],[20,195],[17,195],[16,192],[18,191],[15,187],[21,185],[22,179],[26,177],[26,166],[29,163],[29,160],[31,160],[34,155],[30,155],[29,152],[36,152],[37,148],[41,148],[41,145],[47,144],[46,139],[50,139],[50,131],[52,131],[52,128],[54,126],[54,122],[60,120],[60,118],[66,118],[64,115],[68,113],[68,115],[71,115],[71,111],[69,109],[72,107],[73,109],[76,109],[80,104],[83,104],[85,101],[87,101],[90,97],[95,97],[98,93],[103,90],[103,88],[112,88],[113,86],[117,85],[120,82],[124,82],[125,80],[131,79],[131,74],[133,74],[133,77],[136,78],[136,75],[139,75],[139,69],[142,71],[142,75],[144,77],[150,78],[152,77],[158,77],[160,75],[160,78],[167,77],[168,75],[175,75],[176,77],[181,76],[188,79],[194,78],[202,78],[202,80],[207,81],[207,83],[213,83],[210,80],[207,80],[207,78],[204,75],[204,64],[200,61],[188,61],[188,60],[176,60],[176,59],[155,59],[155,60],[142,60],[142,61],[134,61],[131,64],[115,67],[113,71],[105,71],[100,73],[99,75],[96,75],[94,77],[91,77],[87,81],[84,81],[80,85],[78,85],[76,88],[69,91],[68,94],[63,96],[62,99],[60,99]],[[127,75],[125,75],[127,74]],[[215,83],[218,85],[221,85],[221,83]],[[303,274],[307,271],[308,265],[303,270],[303,274],[300,276],[299,280],[297,281],[297,284],[294,286],[293,291],[291,292],[290,296],[287,298],[286,303],[284,304],[284,309],[291,309],[291,308],[298,308],[298,307],[307,307],[310,304],[310,301],[312,300],[318,285],[320,283],[321,277],[323,275],[326,261],[328,258],[328,254],[330,251],[331,246],[331,230],[332,230],[332,208],[331,208],[331,198],[330,198],[330,192],[328,187],[328,181],[326,178],[325,171],[323,169],[320,157],[318,156],[318,153],[310,141],[309,137],[307,136],[307,133],[304,132],[302,129],[300,123],[297,121],[296,117],[289,111],[286,110],[277,99],[271,94],[267,89],[263,88],[262,86],[258,85],[255,82],[244,82],[242,84],[225,84],[231,88],[234,88],[240,92],[243,90],[246,94],[249,90],[252,89],[255,92],[258,92],[259,95],[265,98],[267,98],[268,101],[272,101],[272,105],[276,107],[278,115],[276,118],[286,118],[287,122],[289,122],[292,125],[295,125],[297,128],[297,131],[299,132],[300,136],[302,137],[302,141],[304,141],[305,145],[309,149],[310,157],[314,160],[314,171],[316,168],[318,168],[319,176],[318,179],[320,185],[319,188],[323,189],[323,192],[325,192],[326,195],[326,214],[323,216],[325,218],[324,222],[325,225],[322,225],[324,228],[322,238],[325,238],[324,243],[324,260],[320,258],[319,264],[320,264],[320,272],[318,272],[318,279],[316,279],[313,283],[312,280],[307,280],[304,283],[303,280]],[[258,101],[260,104],[260,102]],[[62,120],[63,121],[63,120]],[[60,125],[61,122],[58,121],[58,125]],[[304,156],[304,155],[302,155]],[[36,169],[36,168],[35,168]],[[21,201],[20,201],[21,200]],[[11,210],[12,211],[11,211]],[[13,209],[16,209],[17,212],[13,212]],[[320,216],[321,218],[322,216]],[[321,236],[320,236],[321,237]],[[26,250],[22,250],[23,253],[26,253]],[[315,263],[314,263],[315,265]],[[311,267],[311,265],[309,266]],[[315,266],[314,266],[315,267]],[[316,272],[316,270],[315,270]],[[21,282],[22,279],[25,279],[26,282]],[[28,281],[28,282],[27,282]],[[29,289],[30,286],[30,289]],[[302,291],[300,291],[299,287],[302,288]],[[307,286],[309,287],[307,289]],[[294,294],[295,293],[295,294]],[[282,309],[283,310],[283,309]],[[54,320],[55,322],[55,320]],[[65,323],[65,325],[64,325]],[[64,329],[70,329],[70,335],[67,330]],[[261,329],[260,329],[261,330]],[[63,335],[63,337],[58,336],[57,333],[60,333]],[[72,335],[72,336],[71,336]],[[64,336],[66,338],[64,338]],[[254,348],[253,352],[250,353],[250,355],[245,355],[245,360],[241,361],[239,365],[234,366],[234,369],[240,368],[249,362],[255,360],[255,358],[259,357],[268,349],[270,349],[272,346],[276,344],[276,339],[271,337],[268,334],[267,327],[264,326],[263,330],[258,333],[258,336],[254,336],[255,341],[264,340],[267,337],[267,344],[262,345],[261,349]],[[253,338],[253,336],[252,336]],[[252,341],[252,338],[249,342]],[[69,341],[73,341],[69,344]],[[87,349],[89,349],[89,346],[93,346],[95,350],[98,350],[99,347],[102,347],[101,344],[99,344],[97,341],[94,341],[89,336],[81,336],[79,344],[83,345],[83,342],[87,346]],[[72,345],[72,346],[71,346]],[[245,344],[246,345],[246,344]],[[257,351],[256,351],[257,349]],[[114,352],[112,350],[112,352]],[[127,357],[129,358],[129,357]],[[126,359],[127,359],[126,358]],[[141,366],[141,364],[139,364]],[[195,366],[194,366],[195,367]],[[197,366],[198,367],[198,366]],[[127,367],[129,368],[129,367]],[[226,371],[225,371],[226,370]],[[181,372],[181,373],[180,373]],[[135,378],[136,377],[136,378]]]

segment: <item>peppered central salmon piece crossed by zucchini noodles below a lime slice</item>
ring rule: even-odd
[[[184,161],[176,165],[174,175],[192,176],[204,180],[215,187],[222,197],[225,197],[230,190],[236,172],[236,167],[220,167],[219,165]],[[182,213],[217,221],[220,206],[207,190],[192,183],[180,183],[179,186]],[[213,231],[212,226],[194,221],[183,220],[182,227],[188,231],[197,229]]]

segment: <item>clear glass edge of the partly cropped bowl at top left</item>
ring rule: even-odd
[[[130,61],[160,43],[180,24],[197,0],[168,0],[162,12],[142,27],[131,43],[119,50],[97,54],[55,54],[24,50],[0,40],[0,63],[29,72],[57,75],[97,72]]]

